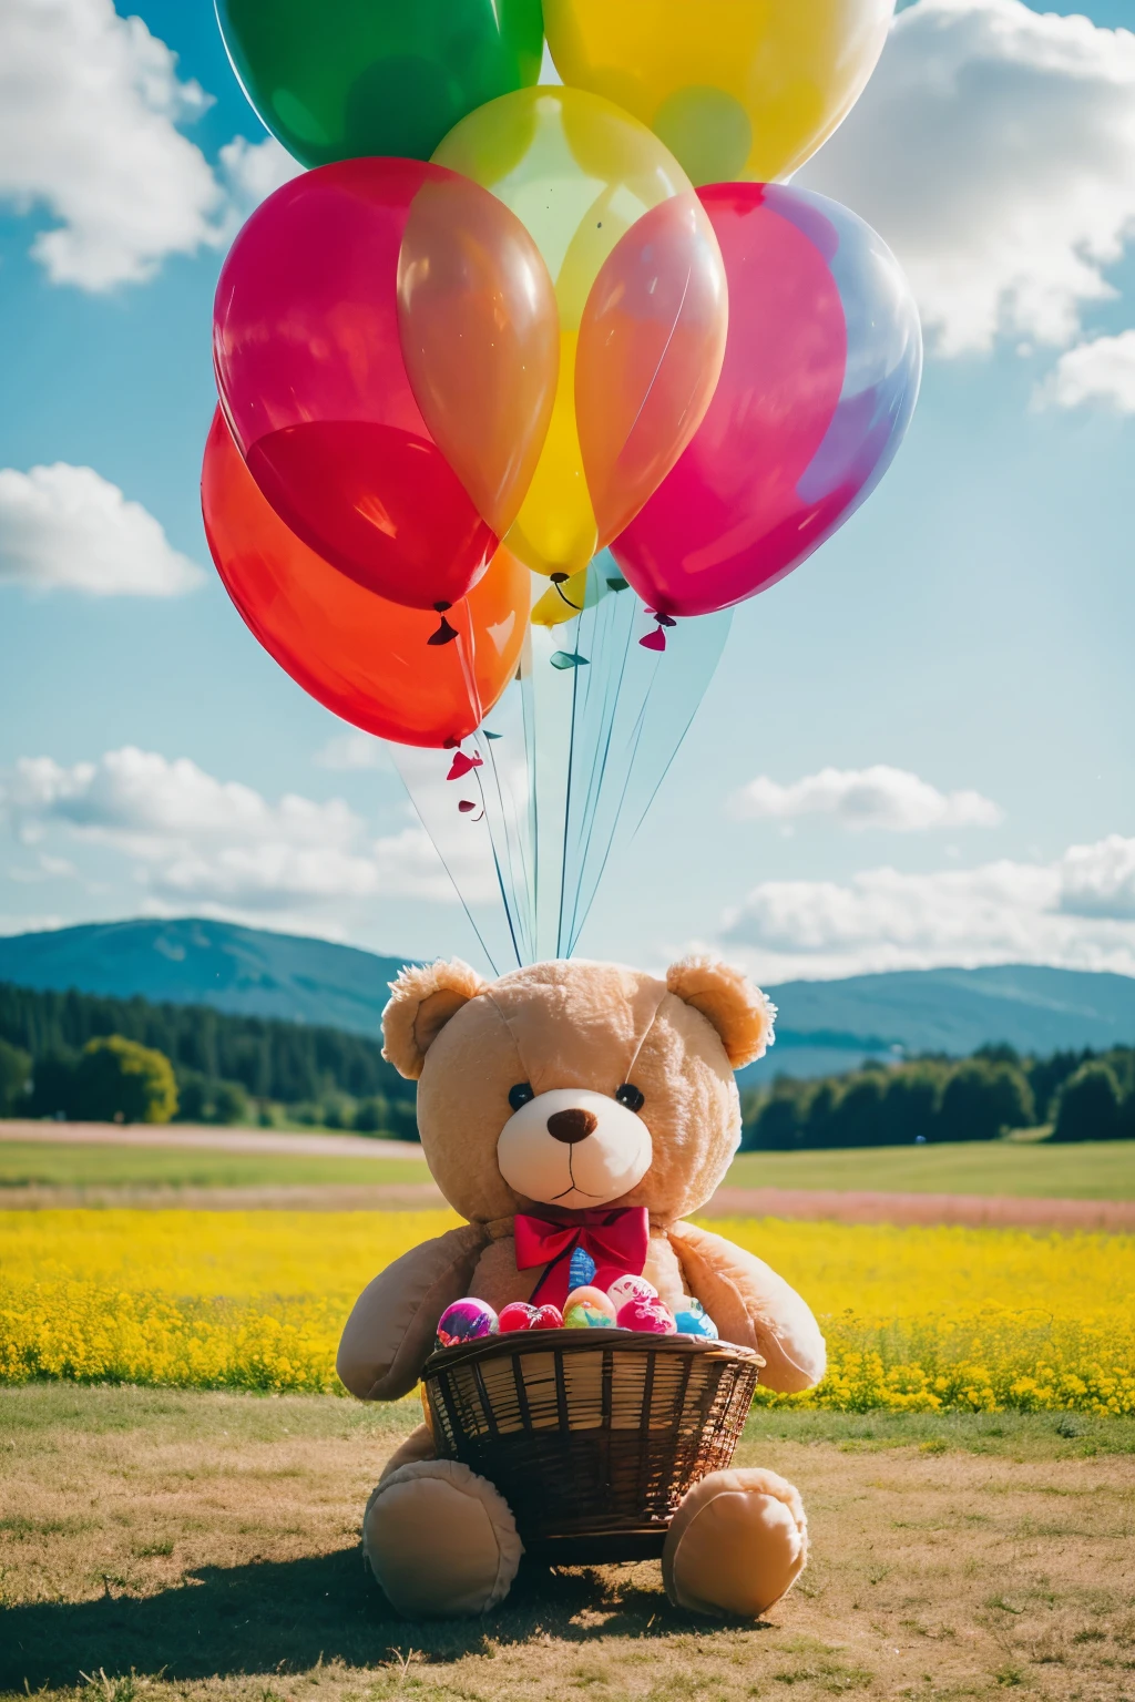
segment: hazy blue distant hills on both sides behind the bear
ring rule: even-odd
[[[141,994],[374,1035],[400,958],[230,922],[94,922],[0,940],[0,980],[22,987]],[[864,1057],[1007,1042],[1019,1052],[1135,1043],[1135,979],[1081,970],[902,970],[767,989],[779,1006],[769,1059],[742,1072],[818,1076]]]

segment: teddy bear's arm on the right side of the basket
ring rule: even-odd
[[[689,1294],[701,1300],[721,1339],[764,1355],[766,1389],[798,1394],[820,1380],[825,1368],[820,1326],[783,1276],[696,1224],[676,1224],[670,1244]]]

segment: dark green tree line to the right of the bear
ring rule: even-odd
[[[997,1140],[1041,1123],[1062,1142],[1135,1140],[1135,1048],[1036,1059],[982,1047],[822,1081],[778,1076],[742,1098],[742,1147],[756,1152]]]

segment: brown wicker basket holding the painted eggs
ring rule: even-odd
[[[725,1341],[539,1329],[434,1353],[422,1401],[437,1454],[500,1489],[529,1554],[631,1561],[730,1464],[762,1365]]]

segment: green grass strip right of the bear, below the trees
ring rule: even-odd
[[[1067,1147],[1047,1140],[990,1140],[846,1152],[742,1152],[727,1186],[1135,1200],[1135,1140]]]

